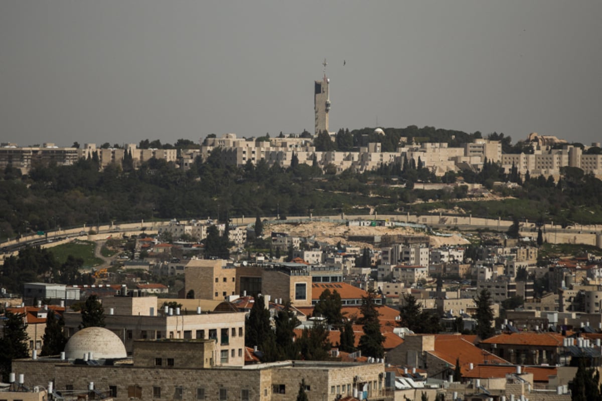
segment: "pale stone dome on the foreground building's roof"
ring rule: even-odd
[[[69,338],[65,346],[68,360],[82,359],[92,352],[95,360],[126,358],[128,353],[117,334],[104,327],[87,327]]]

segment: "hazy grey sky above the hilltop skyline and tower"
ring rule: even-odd
[[[435,126],[602,141],[602,1],[0,1],[0,141]],[[343,61],[346,65],[343,66]]]

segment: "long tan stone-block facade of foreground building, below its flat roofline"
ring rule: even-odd
[[[370,399],[383,394],[379,385],[382,382],[380,374],[384,372],[383,364],[285,362],[273,365],[253,366],[249,369],[167,369],[131,365],[86,366],[32,360],[14,361],[15,370],[26,373],[25,385],[28,387],[40,383],[46,385],[48,381],[54,381],[54,388],[58,391],[67,388],[85,391],[88,384],[93,382],[98,391],[109,391],[113,388],[116,391],[116,401],[128,400],[132,395],[128,394],[128,390],[133,391],[134,387],[138,387],[139,399],[158,398],[153,396],[156,387],[155,391],[160,391],[160,398],[164,400],[176,399],[176,391],[180,389],[183,401],[197,400],[197,389],[202,388],[206,400],[219,400],[220,389],[223,389],[227,393],[228,401],[241,400],[242,390],[248,391],[249,400],[253,401],[294,401],[302,379],[305,379],[305,384],[309,386],[307,393],[310,400],[334,401],[337,397],[337,386],[340,386],[343,393],[345,385],[344,394],[347,394],[347,384],[352,386],[350,392],[353,393],[353,388],[362,389],[368,382],[371,387],[368,393]],[[373,388],[375,381],[376,390]]]

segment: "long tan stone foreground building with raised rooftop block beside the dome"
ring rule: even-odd
[[[118,349],[119,338],[108,335],[111,338],[104,346]],[[335,401],[345,396],[385,399],[382,363],[282,361],[211,367],[208,355],[213,355],[214,346],[208,340],[138,340],[132,358],[97,359],[92,353],[87,361],[78,358],[79,354],[90,355],[87,347],[80,346],[63,360],[13,361],[13,370],[25,374],[27,386],[52,382],[55,391],[63,394],[92,387],[107,391],[115,401],[294,401],[302,379],[311,400]]]

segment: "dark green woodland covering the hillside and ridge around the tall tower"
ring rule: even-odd
[[[357,141],[371,140],[370,135],[378,135],[371,129],[341,130],[340,134],[339,145],[354,146]],[[393,142],[399,141],[402,134],[408,140],[429,138],[448,142],[465,142],[480,136],[478,132],[467,134],[430,127],[385,129],[385,137],[389,136]],[[503,134],[495,135],[504,143],[509,142]],[[151,143],[158,145],[153,142],[149,145]],[[499,165],[485,161],[478,172],[464,170],[435,177],[428,168],[421,167],[418,158],[405,160],[401,165],[383,165],[368,173],[344,171],[335,176],[334,166],[322,170],[316,163],[299,164],[296,155],[288,169],[278,165],[268,167],[265,161],[257,165],[249,162],[239,168],[226,165],[220,152],[219,148],[214,150],[206,161],[197,159],[187,171],[159,159],[151,159],[134,170],[129,158],[121,165],[111,164],[102,171],[99,171],[97,158],[81,159],[72,166],[34,167],[28,176],[20,176],[18,170],[8,167],[0,174],[0,239],[58,227],[82,224],[94,227],[110,221],[208,216],[225,221],[258,213],[285,217],[309,213],[363,214],[370,209],[379,214],[425,213],[456,204],[473,216],[492,215],[504,219],[518,216],[565,225],[594,222],[596,216],[602,216],[602,182],[583,174],[579,168],[563,168],[562,178],[554,182],[551,178],[532,178],[529,174],[520,176],[516,168],[506,174]],[[465,202],[471,194],[464,185],[438,191],[413,189],[418,182],[462,180],[481,183],[502,195],[514,195],[520,198],[521,204],[510,201],[491,204],[474,199]],[[500,181],[522,186],[494,188],[494,182]],[[417,200],[432,202],[417,204]]]

